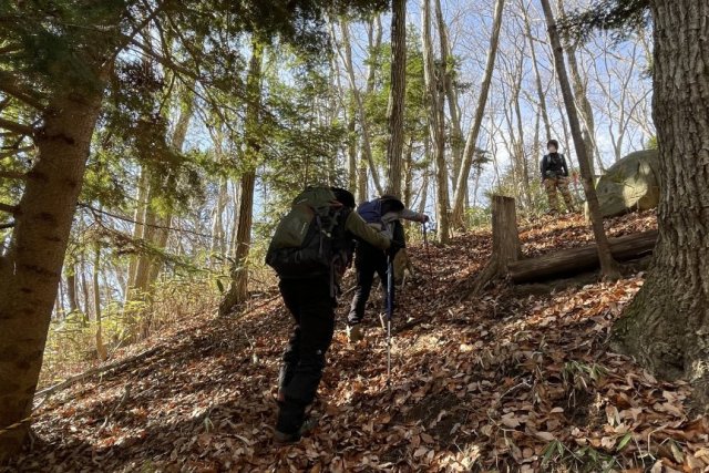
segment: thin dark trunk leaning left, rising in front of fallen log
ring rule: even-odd
[[[613,259],[610,253],[610,246],[608,245],[608,238],[606,237],[606,230],[603,227],[603,216],[600,215],[600,206],[598,205],[598,196],[596,195],[596,187],[594,185],[594,176],[590,172],[588,155],[586,153],[586,145],[582,135],[580,124],[578,122],[578,115],[576,113],[576,106],[574,102],[574,93],[566,74],[566,64],[564,63],[564,49],[558,37],[558,29],[556,27],[556,20],[552,12],[552,6],[549,0],[542,0],[542,7],[544,8],[544,16],[546,17],[546,24],[548,27],[549,41],[554,52],[554,62],[556,65],[556,72],[558,74],[558,82],[564,96],[564,104],[566,106],[566,113],[568,115],[568,123],[572,128],[572,137],[574,138],[574,147],[578,155],[578,165],[580,167],[582,181],[584,184],[584,192],[586,194],[586,202],[588,203],[588,213],[590,215],[590,223],[594,230],[594,237],[598,247],[598,259],[600,260],[600,271],[607,279],[618,279],[620,274],[616,261]]]

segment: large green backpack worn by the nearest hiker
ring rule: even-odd
[[[347,259],[347,212],[330,188],[306,189],[278,224],[266,264],[281,278],[331,275],[333,265]]]

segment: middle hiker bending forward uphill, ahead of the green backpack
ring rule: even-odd
[[[429,217],[424,214],[404,208],[404,205],[394,196],[384,195],[378,199],[360,204],[357,208],[359,215],[378,232],[392,239],[392,247],[395,249],[405,247],[405,237],[401,218],[412,222],[425,223]],[[367,300],[372,289],[374,274],[379,275],[387,299],[387,253],[382,251],[367,241],[358,241],[354,257],[354,268],[357,270],[357,288],[350,313],[347,320],[347,333],[351,342],[363,338],[361,327]],[[391,254],[393,258],[393,253]]]

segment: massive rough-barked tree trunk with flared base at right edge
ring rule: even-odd
[[[614,346],[656,373],[685,377],[709,403],[709,3],[654,0],[654,117],[660,238]]]

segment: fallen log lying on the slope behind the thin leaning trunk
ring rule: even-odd
[[[610,251],[618,261],[636,259],[653,253],[657,237],[658,232],[650,230],[609,238]],[[598,268],[599,264],[596,245],[588,245],[512,261],[507,265],[507,274],[514,282],[530,282],[593,270]]]

